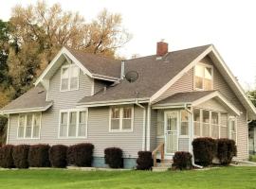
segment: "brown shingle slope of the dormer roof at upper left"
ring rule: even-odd
[[[76,59],[79,60],[90,73],[107,77],[120,77],[120,60],[112,60],[68,47],[65,48],[67,48],[68,51],[76,57]]]

